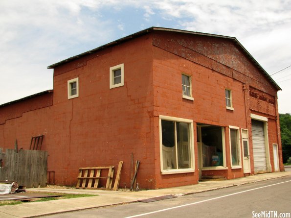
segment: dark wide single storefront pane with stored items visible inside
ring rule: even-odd
[[[222,128],[220,126],[201,126],[202,166],[224,166]]]

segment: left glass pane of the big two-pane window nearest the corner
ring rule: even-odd
[[[163,170],[177,169],[175,148],[175,122],[161,121]]]

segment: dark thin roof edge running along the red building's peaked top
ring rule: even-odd
[[[55,63],[55,64],[52,64],[50,66],[47,67],[47,69],[54,69],[55,67],[57,66],[60,66],[60,65],[63,65],[67,62],[70,62],[70,61],[73,61],[73,60],[76,60],[80,57],[84,57],[86,55],[89,55],[89,54],[92,54],[92,53],[96,53],[100,50],[103,50],[105,48],[109,48],[109,47],[112,47],[112,46],[115,46],[115,45],[118,45],[120,43],[123,43],[123,42],[126,42],[126,41],[129,41],[131,39],[134,39],[136,37],[139,37],[141,35],[144,35],[144,34],[147,34],[148,32],[152,32],[152,31],[168,31],[168,32],[179,32],[179,33],[186,33],[186,34],[194,34],[194,35],[202,35],[202,36],[210,36],[210,37],[217,37],[217,38],[224,38],[224,39],[229,39],[229,40],[232,40],[234,41],[234,43],[236,45],[238,45],[240,48],[242,48],[242,50],[245,52],[246,56],[252,60],[252,62],[262,71],[262,73],[264,73],[266,75],[266,77],[269,79],[269,81],[274,85],[274,87],[277,89],[277,90],[282,90],[279,85],[270,77],[269,73],[267,73],[264,68],[253,58],[253,56],[251,56],[251,54],[246,50],[246,48],[235,38],[235,37],[230,37],[230,36],[223,36],[223,35],[216,35],[216,34],[209,34],[209,33],[202,33],[202,32],[194,32],[194,31],[188,31],[188,30],[180,30],[180,29],[172,29],[172,28],[164,28],[164,27],[150,27],[150,28],[147,28],[147,29],[144,29],[144,30],[141,30],[139,32],[136,32],[134,34],[131,34],[129,36],[126,36],[126,37],[123,37],[121,39],[118,39],[118,40],[115,40],[111,43],[108,43],[106,45],[103,45],[103,46],[100,46],[98,48],[94,48],[92,50],[89,50],[89,51],[86,51],[84,53],[81,53],[81,54],[78,54],[76,56],[73,56],[73,57],[70,57],[70,58],[67,58],[63,61],[60,61],[58,63]]]

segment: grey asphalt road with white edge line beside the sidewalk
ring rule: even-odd
[[[283,213],[283,214],[281,214]],[[253,218],[290,217],[291,176],[189,194],[151,203],[131,203],[47,218]]]

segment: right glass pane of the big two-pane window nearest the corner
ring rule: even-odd
[[[191,168],[189,124],[177,122],[178,168]]]

